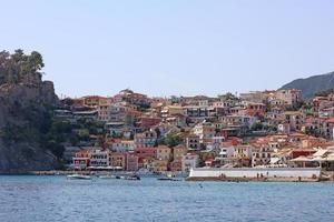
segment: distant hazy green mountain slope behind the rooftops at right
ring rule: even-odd
[[[306,79],[296,79],[287,84],[284,84],[281,89],[299,89],[303,91],[303,98],[310,99],[317,92],[334,89],[334,72],[313,75]]]

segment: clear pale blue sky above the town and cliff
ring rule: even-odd
[[[59,97],[217,95],[334,71],[334,1],[0,0],[0,50],[43,56]]]

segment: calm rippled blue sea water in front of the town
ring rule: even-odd
[[[0,221],[334,221],[333,183],[1,175]]]

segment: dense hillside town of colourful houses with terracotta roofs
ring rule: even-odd
[[[56,118],[81,124],[65,143],[71,170],[187,173],[191,168],[321,167],[334,170],[334,94],[266,90],[216,98],[61,100]]]

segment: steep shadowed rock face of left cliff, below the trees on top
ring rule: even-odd
[[[39,137],[57,100],[49,81],[0,88],[0,172],[55,168],[56,157],[42,148]]]

